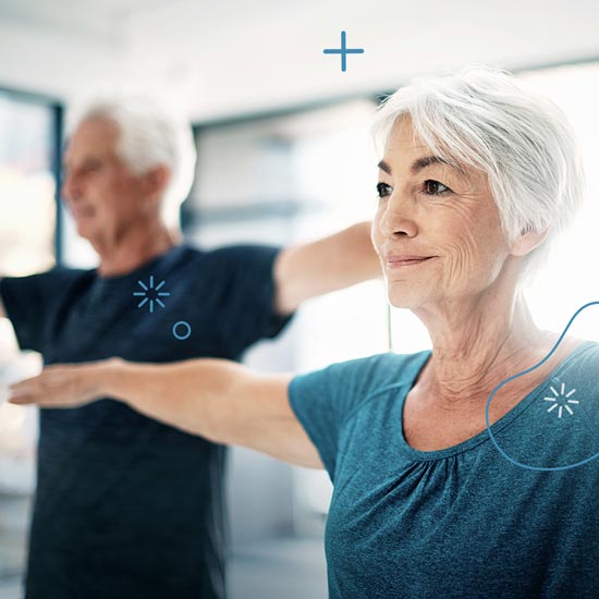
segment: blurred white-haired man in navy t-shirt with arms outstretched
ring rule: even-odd
[[[367,223],[283,250],[180,243],[164,210],[191,179],[185,144],[149,102],[83,114],[62,195],[99,267],[0,280],[23,350],[46,365],[239,359],[304,300],[378,276]],[[224,597],[224,448],[108,399],[40,412],[27,599]]]

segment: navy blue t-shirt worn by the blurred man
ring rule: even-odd
[[[273,311],[278,252],[181,245],[122,277],[54,269],[0,292],[47,365],[237,359],[289,319]],[[223,447],[112,400],[41,409],[27,599],[224,597],[223,468]]]

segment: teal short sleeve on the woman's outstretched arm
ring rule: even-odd
[[[345,423],[376,390],[394,382],[398,359],[395,354],[379,354],[333,364],[291,381],[291,407],[333,482]]]

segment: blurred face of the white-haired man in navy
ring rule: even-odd
[[[84,121],[64,154],[62,197],[77,232],[91,242],[118,241],[151,209],[147,182],[119,158],[118,139],[112,122]]]

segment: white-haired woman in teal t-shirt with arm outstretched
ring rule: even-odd
[[[511,76],[469,70],[400,89],[376,131],[372,241],[391,304],[423,320],[432,351],[295,378],[112,359],[48,368],[11,401],[112,398],[327,468],[331,598],[596,598],[598,463],[569,466],[598,450],[599,345],[555,346],[521,292],[580,201],[570,129]]]

